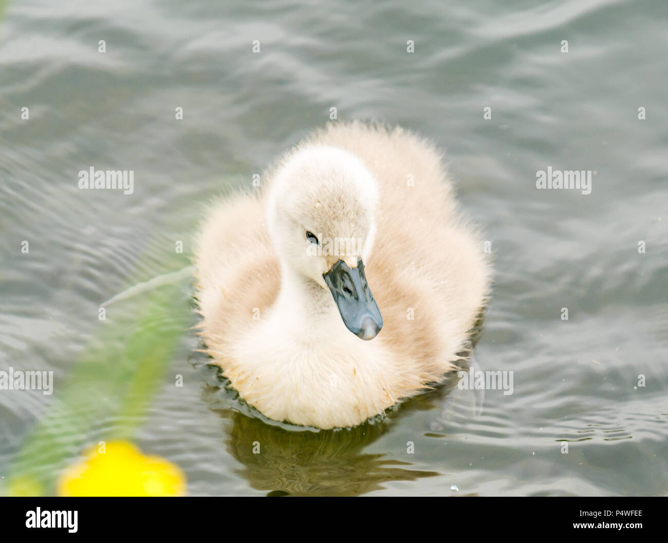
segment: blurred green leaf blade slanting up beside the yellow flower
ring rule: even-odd
[[[17,453],[5,492],[50,494],[95,434],[95,443],[132,437],[192,318],[188,274],[173,275],[140,292],[131,287],[132,296],[106,308],[65,385],[54,385],[53,403]]]

